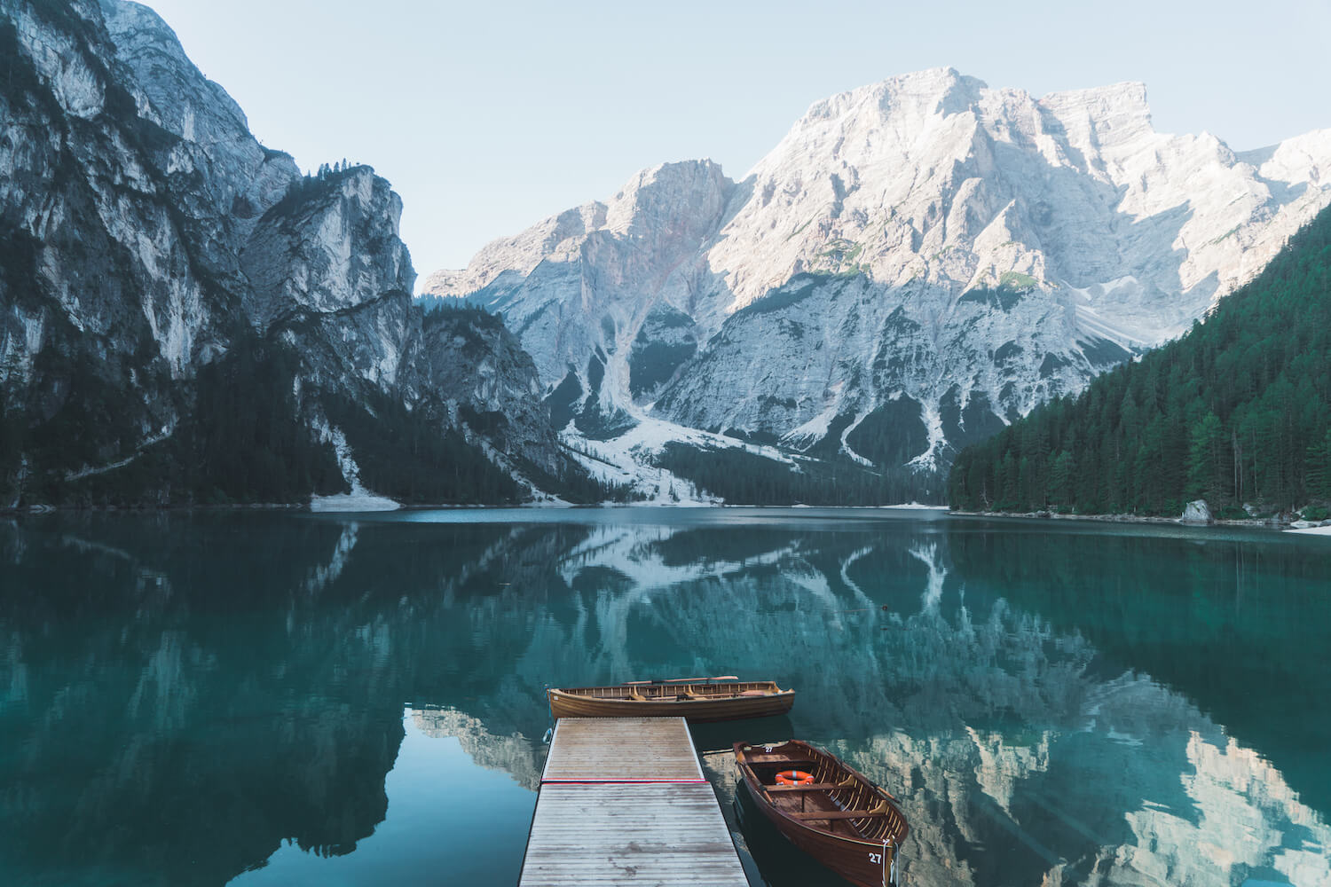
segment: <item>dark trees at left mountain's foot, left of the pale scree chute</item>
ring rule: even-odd
[[[282,346],[238,334],[176,392],[180,424],[146,444],[132,443],[144,438],[133,388],[87,354],[53,359],[71,396],[49,418],[25,407],[0,420],[3,504],[298,503],[346,489],[331,447],[298,416],[298,359]]]

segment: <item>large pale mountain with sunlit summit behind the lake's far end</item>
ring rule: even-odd
[[[1331,130],[1235,153],[1157,133],[1141,84],[936,69],[817,102],[740,182],[648,169],[423,290],[502,314],[571,436],[929,473],[1182,334],[1328,202]]]

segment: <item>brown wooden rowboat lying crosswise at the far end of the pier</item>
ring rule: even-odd
[[[795,690],[783,690],[775,681],[740,681],[733,676],[552,688],[546,696],[555,718],[659,715],[729,721],[785,714],[795,705]]]

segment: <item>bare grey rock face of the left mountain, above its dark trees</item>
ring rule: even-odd
[[[28,472],[96,472],[170,439],[200,370],[256,342],[285,344],[298,364],[295,415],[278,423],[327,436],[323,395],[425,403],[441,435],[465,427],[459,403],[512,407],[502,439],[465,436],[554,467],[520,359],[473,348],[473,364],[454,366],[461,354],[430,347],[402,201],[373,169],[302,177],[148,7],[3,0],[0,41],[12,60],[0,81],[0,410],[33,426],[63,410],[93,416],[77,457],[40,435],[7,456],[5,505],[27,504]]]

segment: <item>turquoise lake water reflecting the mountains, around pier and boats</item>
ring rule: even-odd
[[[858,509],[0,523],[0,883],[512,884],[544,684],[795,686],[912,884],[1331,883],[1331,540]]]

